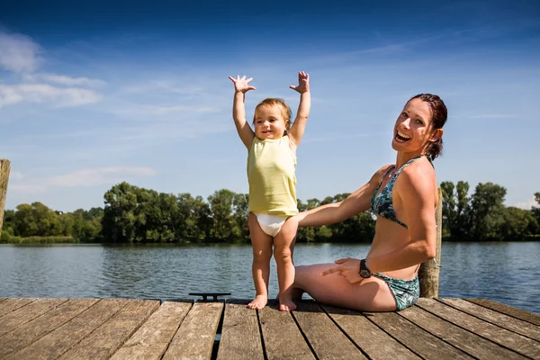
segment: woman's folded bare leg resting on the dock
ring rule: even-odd
[[[321,275],[335,264],[297,266],[294,287],[309,293],[318,302],[356,311],[395,311],[396,302],[383,279],[372,276],[350,284],[337,273]]]

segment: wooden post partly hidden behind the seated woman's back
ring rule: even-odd
[[[435,259],[437,264],[441,264],[441,244],[443,239],[443,194],[441,188],[437,189],[439,201],[437,210],[435,211],[435,220],[437,223],[437,252]],[[419,282],[420,282],[420,297],[422,298],[437,298],[438,297],[438,280],[439,266],[435,261],[428,261],[420,266]]]

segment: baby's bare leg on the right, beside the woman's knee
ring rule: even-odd
[[[292,311],[296,309],[296,305],[293,302],[293,247],[296,229],[297,223],[287,220],[274,238],[274,258],[277,267],[277,282],[279,284],[278,298],[280,311]]]

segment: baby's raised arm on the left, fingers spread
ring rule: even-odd
[[[236,78],[229,76],[230,81],[234,83],[234,100],[232,103],[232,118],[236,125],[238,136],[246,145],[247,150],[251,148],[253,138],[255,138],[255,132],[251,129],[246,121],[246,107],[244,102],[246,100],[246,93],[249,90],[255,90],[255,86],[249,85],[253,77],[236,76]]]

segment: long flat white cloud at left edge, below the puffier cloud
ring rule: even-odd
[[[58,107],[97,103],[101,95],[79,87],[58,88],[46,84],[0,85],[0,105],[51,103]]]

